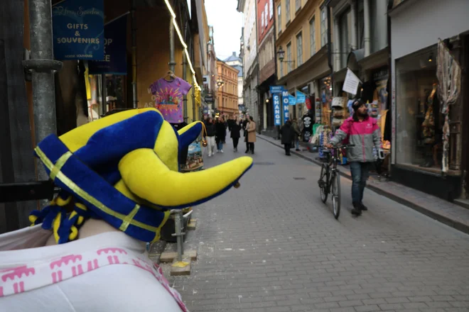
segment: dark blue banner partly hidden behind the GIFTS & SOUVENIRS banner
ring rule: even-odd
[[[88,63],[90,74],[127,74],[127,13],[104,25],[104,60]]]

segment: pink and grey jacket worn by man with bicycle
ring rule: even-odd
[[[352,117],[347,118],[335,131],[330,144],[335,146],[346,139],[347,144],[355,145],[347,150],[349,162],[374,162],[373,146],[381,148],[381,131],[376,119],[367,117],[363,121],[354,121]]]

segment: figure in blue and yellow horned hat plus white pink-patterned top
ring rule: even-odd
[[[176,131],[159,111],[144,108],[42,140],[35,155],[61,191],[49,206],[31,213],[31,227],[0,235],[0,306],[187,311],[161,269],[144,255],[143,242],[158,240],[172,209],[202,204],[239,186],[252,167],[251,157],[239,157],[179,172],[178,152],[203,128],[195,122]],[[105,230],[93,233],[97,226]],[[92,234],[80,237],[85,228]],[[51,234],[55,244],[46,245]],[[97,270],[101,267],[116,269]],[[56,299],[52,306],[48,298]]]

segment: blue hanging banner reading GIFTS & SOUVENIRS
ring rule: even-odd
[[[103,0],[64,0],[52,7],[55,60],[104,60]]]

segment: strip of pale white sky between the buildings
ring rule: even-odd
[[[223,60],[232,52],[239,55],[242,13],[236,11],[237,0],[205,0],[208,25],[213,26],[215,53]]]

